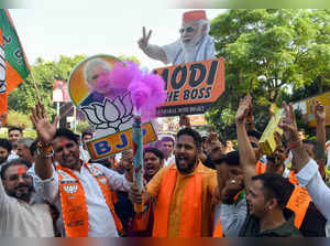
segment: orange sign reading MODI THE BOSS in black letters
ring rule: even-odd
[[[154,69],[165,81],[166,103],[157,116],[199,115],[224,92],[224,58],[206,60]]]

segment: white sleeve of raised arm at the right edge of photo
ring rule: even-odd
[[[319,172],[315,160],[310,161],[296,174],[300,186],[306,186],[312,202],[321,214],[330,221],[330,189],[327,186]]]

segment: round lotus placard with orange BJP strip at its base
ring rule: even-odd
[[[103,81],[99,79],[109,76],[117,62],[121,61],[110,55],[90,56],[73,69],[68,79],[68,92],[73,103],[95,129],[94,139],[86,142],[92,160],[132,148],[131,94],[127,88],[116,87],[110,81],[106,83],[110,93],[105,94],[101,86]],[[151,122],[145,122],[143,129],[145,142],[157,139]]]

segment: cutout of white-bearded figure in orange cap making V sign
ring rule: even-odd
[[[183,24],[179,30],[180,38],[174,43],[158,46],[150,44],[152,31],[139,40],[140,49],[151,58],[164,64],[182,64],[216,58],[215,41],[208,35],[210,23],[204,10],[194,10],[183,14]]]

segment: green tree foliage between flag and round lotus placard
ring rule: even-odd
[[[86,55],[76,55],[68,57],[61,55],[58,61],[45,62],[37,58],[36,63],[31,66],[32,74],[35,78],[36,86],[41,94],[42,103],[45,105],[48,116],[56,114],[56,108],[52,101],[52,90],[55,81],[67,81],[73,68],[86,58]],[[120,60],[129,60],[140,64],[135,56],[119,56]],[[30,108],[37,103],[37,96],[33,86],[32,76],[21,83],[8,97],[9,119],[8,125],[31,127],[29,119]],[[78,125],[78,131],[84,130],[89,125],[84,121]]]

